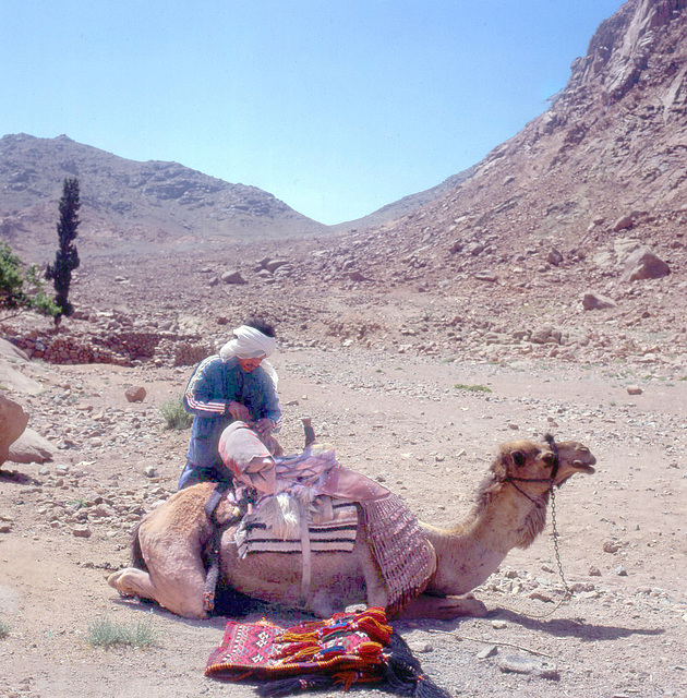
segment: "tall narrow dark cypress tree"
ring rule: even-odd
[[[62,315],[68,317],[74,312],[74,308],[69,302],[69,287],[72,282],[72,272],[79,267],[79,252],[74,240],[76,239],[76,228],[79,220],[79,180],[65,179],[60,198],[60,221],[58,222],[58,238],[60,246],[55,256],[55,264],[48,264],[46,278],[51,279],[55,285],[55,302],[58,306],[58,314],[55,316],[55,324],[59,325]]]

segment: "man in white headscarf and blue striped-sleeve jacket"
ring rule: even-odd
[[[274,328],[263,321],[248,321],[233,336],[219,354],[198,364],[186,386],[183,404],[193,414],[193,428],[179,490],[205,481],[231,482],[218,444],[225,428],[236,420],[250,424],[279,455],[272,436],[281,426],[278,377],[267,361],[277,346]]]

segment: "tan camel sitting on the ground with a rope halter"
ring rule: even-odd
[[[596,459],[589,448],[547,438],[547,444],[525,440],[503,444],[462,522],[449,529],[420,524],[435,555],[434,571],[424,590],[397,617],[448,619],[486,614],[484,604],[469,592],[497,569],[510,550],[528,547],[542,532],[554,486],[577,472],[594,472]],[[110,575],[109,585],[123,597],[154,600],[180,616],[207,617],[203,546],[213,525],[204,505],[213,489],[214,483],[196,484],[148,513],[135,531],[137,567]],[[222,506],[218,520],[230,515]],[[249,597],[320,617],[361,602],[388,606],[388,592],[364,527],[360,527],[352,552],[312,555],[312,592],[306,600],[301,599],[300,555],[261,553],[241,559],[233,532],[230,527],[221,537],[221,575],[227,585]]]

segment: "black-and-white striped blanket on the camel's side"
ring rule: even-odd
[[[350,502],[333,505],[334,518],[321,524],[309,521],[310,549],[313,553],[350,553],[358,537],[358,507]],[[245,521],[245,519],[244,519]],[[301,535],[298,529],[286,538],[275,534],[267,524],[245,521],[237,531],[241,558],[255,553],[300,554]]]

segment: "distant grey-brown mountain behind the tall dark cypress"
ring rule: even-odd
[[[32,255],[56,244],[64,178],[80,181],[80,246],[93,251],[279,239],[327,227],[255,186],[177,163],[128,160],[65,135],[0,139],[0,234]]]

